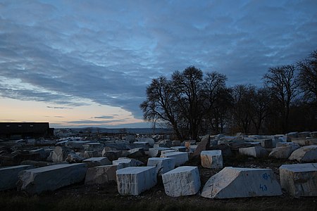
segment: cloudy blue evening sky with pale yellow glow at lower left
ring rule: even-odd
[[[255,84],[317,50],[317,1],[0,0],[0,122],[149,127],[151,79]]]

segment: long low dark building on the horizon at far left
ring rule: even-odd
[[[27,139],[54,135],[49,122],[0,122],[0,139]]]

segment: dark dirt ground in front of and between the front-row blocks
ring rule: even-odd
[[[144,158],[144,161],[146,158]],[[291,164],[289,160],[247,157],[224,158],[224,166],[271,168],[279,180],[278,168]],[[199,159],[186,165],[199,167],[201,188],[206,181],[220,170],[201,167]],[[87,186],[75,184],[39,196],[3,191],[0,193],[0,210],[317,210],[317,197],[292,198],[283,191],[282,196],[232,198],[214,200],[199,196],[173,198],[164,193],[162,181],[139,196],[120,196],[116,183]]]

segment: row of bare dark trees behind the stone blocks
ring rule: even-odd
[[[152,79],[140,108],[153,127],[180,140],[201,134],[285,134],[317,130],[317,51],[296,64],[269,68],[263,86],[228,87],[219,72],[190,66]]]

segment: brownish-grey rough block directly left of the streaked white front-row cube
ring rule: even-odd
[[[116,181],[118,165],[101,165],[87,170],[85,184],[105,184]]]

